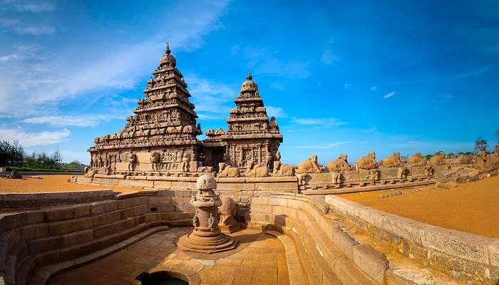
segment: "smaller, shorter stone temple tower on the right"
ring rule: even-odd
[[[282,134],[274,117],[268,118],[257,83],[248,73],[246,81],[234,100],[236,108],[230,110],[227,131],[207,130],[205,160],[217,166],[226,162],[232,167],[247,167],[248,162],[272,169],[273,162],[280,160],[279,144]]]

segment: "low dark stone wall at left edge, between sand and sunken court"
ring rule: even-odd
[[[60,204],[77,204],[115,199],[117,192],[112,189],[71,191],[71,192],[42,192],[42,193],[9,193],[0,194],[0,208],[26,209],[55,206]]]

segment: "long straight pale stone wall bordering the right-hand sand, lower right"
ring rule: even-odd
[[[499,283],[499,239],[436,227],[326,196],[335,214],[394,252],[471,284]]]

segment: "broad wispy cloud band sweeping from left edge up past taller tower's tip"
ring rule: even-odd
[[[98,93],[134,88],[158,64],[165,39],[173,43],[173,53],[199,48],[202,36],[220,28],[218,17],[226,6],[225,1],[196,5],[182,1],[165,13],[163,28],[149,38],[112,44],[90,38],[82,47],[85,58],[78,61],[77,68],[73,49],[61,49],[56,55],[41,49],[36,56],[24,54],[21,61],[1,64],[0,112],[21,117],[19,106],[23,106],[22,115],[46,115],[71,98],[84,95],[91,102]],[[187,12],[195,20],[185,21]],[[41,33],[34,29],[24,32]]]

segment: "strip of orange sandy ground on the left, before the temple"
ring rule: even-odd
[[[111,185],[87,185],[68,182],[72,175],[36,175],[23,177],[23,179],[6,179],[0,177],[0,193],[26,193],[26,192],[66,192],[97,189],[114,189],[120,192],[141,190],[141,187],[116,187]]]

